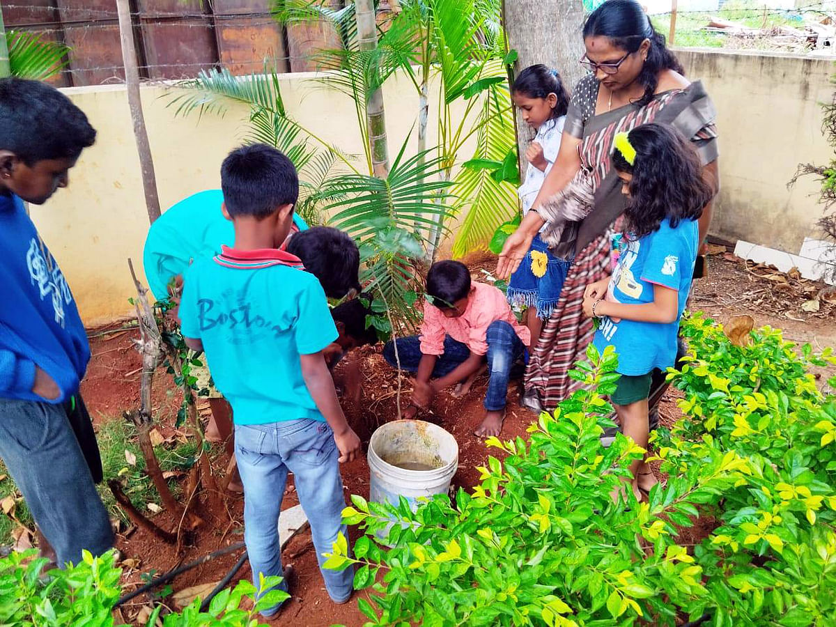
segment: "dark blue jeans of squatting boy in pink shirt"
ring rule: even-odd
[[[508,393],[508,380],[511,378],[511,367],[525,352],[523,342],[517,337],[514,328],[503,320],[492,322],[487,328],[487,369],[490,379],[487,382],[485,394],[485,409],[499,411],[505,409]],[[423,357],[421,353],[421,338],[410,335],[398,338],[398,357],[400,369],[407,372],[417,372],[418,363]],[[436,359],[436,367],[432,370],[432,377],[437,379],[449,375],[453,370],[470,357],[467,344],[452,339],[449,335],[444,339],[444,354]],[[395,359],[395,344],[388,342],[383,347],[383,357],[390,365],[397,368]]]

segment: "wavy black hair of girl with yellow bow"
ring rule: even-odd
[[[627,230],[645,237],[667,217],[670,226],[696,220],[714,196],[702,178],[702,165],[691,142],[670,125],[645,124],[627,135],[635,150],[633,165],[613,150],[613,166],[633,175],[624,217]]]

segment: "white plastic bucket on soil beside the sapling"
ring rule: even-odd
[[[418,497],[446,494],[450,489],[459,465],[459,446],[456,438],[431,422],[394,421],[372,434],[367,458],[370,500],[397,505],[398,498],[405,497],[415,509]]]

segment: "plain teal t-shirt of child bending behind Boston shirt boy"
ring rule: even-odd
[[[168,283],[189,267],[193,259],[212,257],[222,246],[235,243],[235,229],[221,212],[221,190],[198,191],[172,205],[148,229],[142,264],[154,298],[168,298]],[[296,215],[299,231],[308,228]]]

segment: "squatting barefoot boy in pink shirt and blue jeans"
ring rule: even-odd
[[[463,263],[433,263],[426,275],[426,300],[421,336],[397,339],[400,368],[416,373],[404,417],[414,418],[436,392],[465,382],[487,363],[486,414],[476,435],[498,436],[511,367],[531,341],[528,328],[517,322],[499,289],[472,283]],[[385,345],[383,356],[397,367],[393,342]]]

